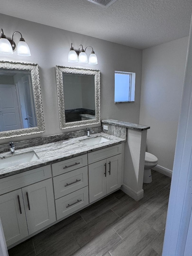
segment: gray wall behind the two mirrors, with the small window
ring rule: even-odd
[[[20,31],[23,38],[25,38],[26,42],[29,44],[32,54],[30,57],[17,56],[16,52],[13,55],[0,54],[0,59],[19,62],[35,62],[39,64],[40,70],[46,132],[44,134],[13,138],[13,141],[79,130],[79,128],[73,128],[67,129],[67,131],[61,131],[59,128],[55,65],[100,69],[101,119],[111,118],[134,123],[139,122],[142,50],[3,14],[0,14],[0,24],[5,35],[9,38],[12,36],[13,32]],[[20,35],[18,34],[15,36],[14,41],[18,43],[19,38]],[[67,56],[71,42],[73,42],[75,49],[79,47],[79,44],[82,44],[84,48],[91,45],[97,54],[99,64],[80,65],[78,63],[68,63]],[[115,70],[136,73],[134,103],[114,104]],[[10,139],[0,140],[0,144],[7,143],[9,140]]]

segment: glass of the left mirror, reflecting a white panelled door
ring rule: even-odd
[[[0,70],[0,131],[36,126],[31,71]]]

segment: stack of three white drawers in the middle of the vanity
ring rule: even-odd
[[[87,154],[52,164],[52,172],[57,220],[88,205]]]

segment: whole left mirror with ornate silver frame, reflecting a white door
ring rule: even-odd
[[[0,139],[45,132],[38,64],[0,61]]]

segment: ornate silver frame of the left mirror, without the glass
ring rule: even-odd
[[[25,62],[9,62],[0,60],[0,69],[16,69],[31,71],[35,111],[37,117],[37,127],[10,131],[0,131],[0,139],[7,139],[12,137],[45,132],[38,64]]]

